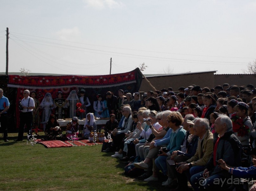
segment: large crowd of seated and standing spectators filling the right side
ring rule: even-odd
[[[188,190],[188,182],[194,190],[256,190],[254,86],[191,85],[174,91],[148,91],[136,111],[131,102],[139,95],[128,94],[105,151],[121,161],[136,158],[134,166],[144,170],[137,179],[170,190]]]

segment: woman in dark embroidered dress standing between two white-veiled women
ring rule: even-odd
[[[55,108],[55,116],[56,119],[63,119],[65,118],[65,110],[64,108],[67,108],[67,102],[69,102],[67,99],[62,98],[62,92],[57,92],[58,98],[54,99],[54,108]]]

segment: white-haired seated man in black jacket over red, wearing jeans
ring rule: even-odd
[[[233,134],[232,121],[226,115],[220,115],[215,121],[215,132],[219,134],[213,148],[213,155],[202,172],[191,177],[194,190],[224,190],[230,187],[228,179],[231,174],[220,168],[219,160],[223,159],[229,166],[241,166],[242,146]],[[231,181],[233,184],[233,181]]]

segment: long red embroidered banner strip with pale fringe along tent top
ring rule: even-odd
[[[8,87],[19,88],[60,88],[60,87],[84,87],[84,88],[102,88],[111,87],[113,85],[120,86],[122,84],[136,83],[142,80],[142,74],[139,68],[133,71],[98,76],[78,76],[78,75],[62,75],[62,76],[20,76],[9,75]],[[138,82],[138,81],[137,81]]]

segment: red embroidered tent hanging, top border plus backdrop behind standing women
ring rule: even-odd
[[[16,106],[23,98],[23,91],[28,89],[30,92],[36,92],[36,98],[41,103],[46,93],[51,93],[53,99],[57,98],[57,92],[62,91],[63,98],[66,99],[70,91],[75,90],[79,95],[81,88],[85,89],[86,96],[89,98],[91,106],[87,112],[93,112],[93,102],[97,100],[96,95],[102,94],[102,101],[105,99],[105,94],[108,91],[118,96],[118,90],[127,90],[130,93],[139,92],[142,81],[142,73],[139,68],[133,71],[100,76],[19,76],[9,75],[8,87],[16,89]],[[19,127],[19,110],[15,107],[16,128]],[[67,116],[69,108],[65,109],[65,116]],[[39,110],[40,116],[42,110]],[[55,113],[54,110],[51,111]],[[39,127],[40,128],[40,127]],[[42,127],[41,127],[42,128]]]

